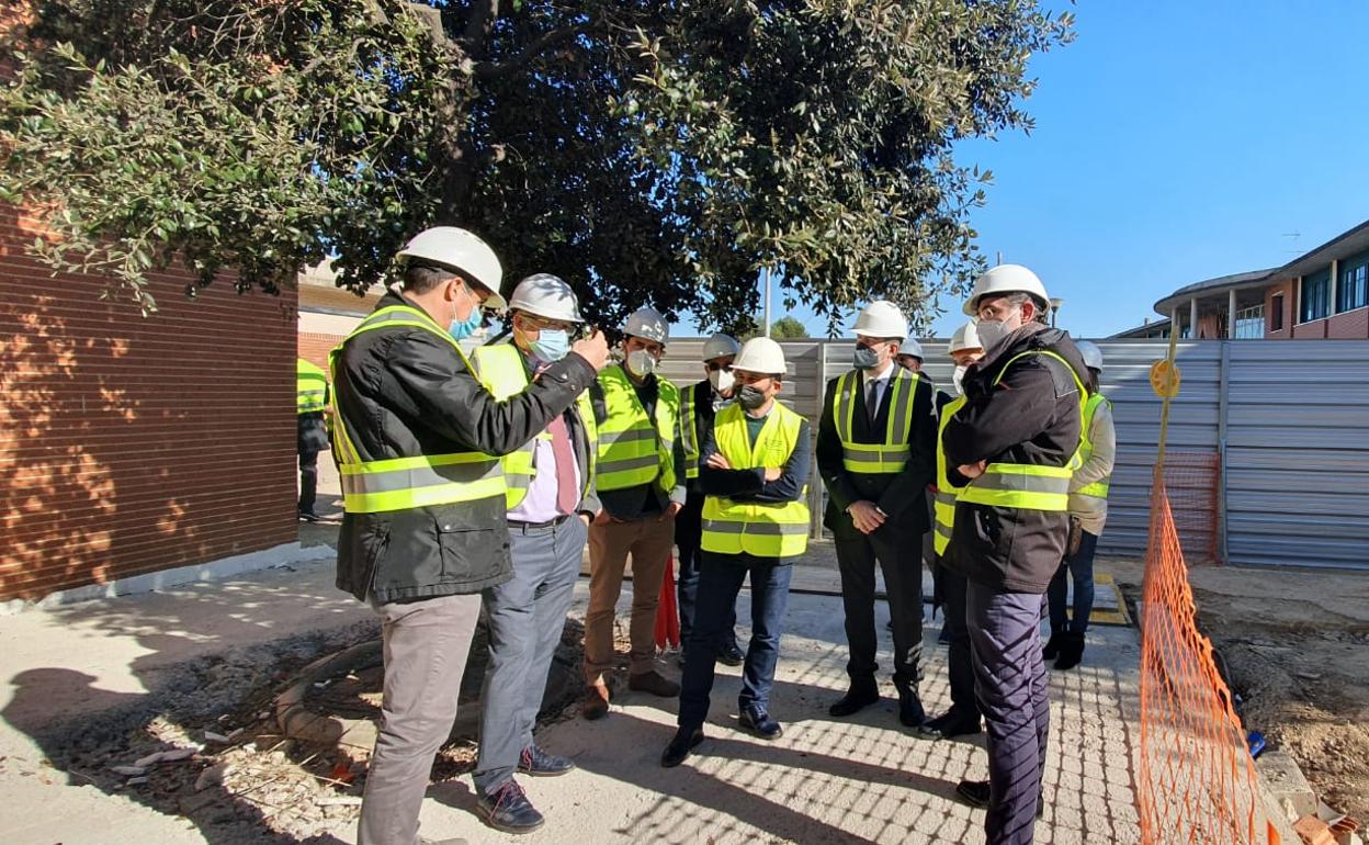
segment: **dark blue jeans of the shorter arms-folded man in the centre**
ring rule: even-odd
[[[717,646],[732,625],[737,594],[747,574],[752,578],[752,641],[746,648],[738,705],[743,709],[769,709],[775,666],[779,663],[780,626],[789,607],[789,582],[794,567],[783,557],[701,552],[698,605],[680,677],[680,727],[698,727],[708,718]]]

